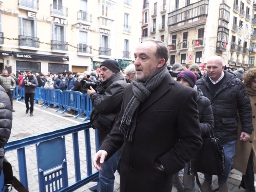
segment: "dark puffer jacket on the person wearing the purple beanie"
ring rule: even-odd
[[[195,86],[196,87],[196,86]],[[200,89],[197,89],[197,100],[198,105],[198,116],[201,128],[202,137],[209,135],[209,132],[213,130],[214,127],[214,116],[212,113],[211,102],[208,98],[203,96]]]

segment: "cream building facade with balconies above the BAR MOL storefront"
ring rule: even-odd
[[[0,0],[0,70],[76,73],[108,58],[125,68],[141,9],[134,0]]]

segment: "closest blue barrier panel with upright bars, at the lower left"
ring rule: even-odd
[[[95,140],[93,136],[91,139],[90,132]],[[34,158],[32,147],[36,148]],[[96,152],[98,148],[98,132],[90,128],[89,122],[10,141],[5,146],[7,160],[10,158],[11,164],[18,160],[19,176],[14,175],[28,190],[40,192],[71,192],[89,182],[98,182],[98,171],[92,166],[92,150]],[[13,150],[17,151],[17,156],[12,154]],[[6,190],[3,186],[1,176],[1,192]]]

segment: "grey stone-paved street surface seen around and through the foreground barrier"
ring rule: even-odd
[[[73,115],[70,114],[60,114],[60,112],[55,112],[56,108],[45,108],[40,107],[40,105],[34,105],[34,116],[30,117],[30,114],[25,114],[26,106],[24,102],[14,101],[14,109],[16,112],[13,112],[13,125],[12,125],[12,134],[10,137],[11,140],[20,139],[32,134],[40,134],[43,132],[48,132],[54,129],[64,128],[68,126],[72,126],[75,124],[80,124],[82,122],[82,118],[74,119]],[[80,151],[80,164],[84,164],[84,170],[86,170],[85,164],[85,152],[83,150],[84,139],[83,133],[79,134],[79,145],[81,147]],[[94,140],[94,130],[90,130],[91,140]],[[74,169],[69,168],[73,167],[70,165],[74,164],[73,159],[73,150],[72,150],[72,136],[66,136],[66,151],[67,151],[67,162],[68,162],[68,181],[75,181]],[[95,151],[95,145],[92,145],[92,152]],[[30,192],[38,192],[38,174],[37,174],[37,164],[36,164],[36,150],[34,146],[29,146],[26,148],[26,157],[27,157],[27,169],[28,169],[28,183],[29,183],[29,191]],[[11,151],[6,153],[6,158],[13,166],[13,172],[16,177],[18,176],[18,161],[17,161],[17,153],[16,151]],[[81,166],[82,167],[82,166]],[[81,176],[85,176],[86,172],[82,171]],[[203,182],[202,174],[199,175],[201,183]],[[241,173],[232,170],[232,174],[230,174],[230,178],[228,179],[228,188],[230,192],[245,192],[245,190],[238,189],[241,180]],[[214,176],[214,186],[217,187],[216,176]],[[76,190],[77,192],[90,192],[88,189],[90,186],[94,185],[94,182],[83,186],[82,188]],[[15,191],[12,189],[12,191]],[[115,184],[115,192],[119,192],[119,175],[116,173],[116,184]],[[173,192],[177,192],[175,188],[172,190]],[[198,186],[196,185],[196,191],[199,191]]]

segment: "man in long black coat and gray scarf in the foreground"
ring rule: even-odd
[[[196,91],[172,79],[162,41],[144,39],[134,56],[136,78],[93,164],[102,171],[104,161],[122,147],[121,192],[168,192],[172,175],[202,145]]]

